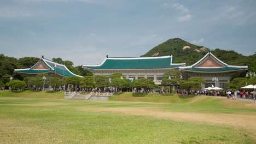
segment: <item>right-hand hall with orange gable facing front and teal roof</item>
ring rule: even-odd
[[[228,65],[220,61],[210,51],[198,62],[188,67],[179,67],[183,79],[203,77],[206,81],[202,88],[216,86],[226,89],[224,83],[229,83],[233,75],[248,69],[248,66]]]

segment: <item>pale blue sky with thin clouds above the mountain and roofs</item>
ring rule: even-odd
[[[75,66],[136,57],[171,38],[256,52],[256,1],[1,0],[0,53]]]

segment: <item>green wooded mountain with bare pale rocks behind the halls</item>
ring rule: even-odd
[[[174,63],[186,63],[192,65],[199,61],[209,51],[207,47],[189,43],[180,38],[169,39],[141,57],[168,56],[173,55]],[[248,65],[249,71],[256,71],[256,54],[243,56],[235,51],[220,49],[211,50],[214,56],[230,65]]]

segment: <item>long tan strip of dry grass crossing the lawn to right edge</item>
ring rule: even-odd
[[[84,109],[85,110],[85,109]],[[189,113],[189,112],[166,112],[153,110],[151,108],[89,108],[89,111],[118,112],[125,115],[150,116],[155,118],[167,118],[182,122],[200,122],[214,125],[229,125],[235,128],[243,128],[250,131],[256,130],[256,116],[237,115],[224,113]]]

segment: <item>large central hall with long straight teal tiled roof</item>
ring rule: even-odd
[[[108,57],[98,65],[83,65],[94,75],[109,76],[121,72],[128,79],[152,79],[161,85],[162,75],[171,69],[185,66],[185,63],[172,63],[173,57]]]

